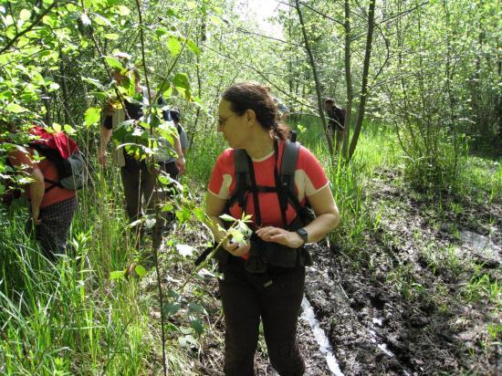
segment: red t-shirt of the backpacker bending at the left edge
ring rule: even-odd
[[[30,158],[31,155],[33,155],[33,150],[31,148],[26,148],[25,151],[16,149],[15,151],[10,151],[8,153],[8,158],[9,162],[18,170],[28,171],[29,169],[39,168],[44,175],[44,178],[53,182],[58,182],[58,170],[56,169],[54,163],[47,159],[40,162],[33,161]],[[46,189],[51,185],[52,183],[46,182]],[[26,185],[25,190],[26,198],[29,200],[29,185]],[[68,191],[68,189],[62,189],[56,186],[44,194],[40,208],[68,200],[68,198],[74,197],[75,194],[75,191]]]

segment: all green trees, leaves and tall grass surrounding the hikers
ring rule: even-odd
[[[152,369],[162,368],[152,356],[158,334],[146,334],[158,329],[149,323],[151,302],[125,279],[128,266],[143,277],[147,262],[126,225],[118,173],[96,160],[104,103],[133,97],[133,83],[114,84],[113,69],[140,68],[142,83],[181,109],[192,147],[184,193],[169,204],[179,222],[204,217],[186,184],[200,193],[207,182],[225,147],[215,137],[219,95],[244,79],[267,84],[288,104],[290,125],[326,166],[343,218],[335,241],[346,236],[355,249],[373,226],[368,221],[379,221],[365,216],[361,175],[391,159],[417,192],[477,190],[488,204],[499,199],[499,167],[470,172],[478,171],[472,153],[497,160],[502,151],[500,2],[288,0],[274,17],[282,37],[264,35],[240,3],[0,0],[0,193],[27,182],[6,153],[26,144],[34,123],[78,140],[91,175],[72,228],[76,260],[48,266],[19,235],[21,204],[0,209],[0,373],[148,374],[152,359]],[[327,97],[348,110],[338,155],[329,137],[319,137]],[[118,139],[150,161],[158,137],[173,130],[162,125],[158,106],[149,111],[145,131],[126,124]],[[189,347],[203,330],[197,315],[204,308],[179,291],[168,295],[162,318],[190,307],[187,328],[167,324]],[[173,356],[162,365],[187,374],[179,343],[169,343]]]

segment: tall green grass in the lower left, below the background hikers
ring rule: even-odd
[[[26,204],[0,210],[2,374],[141,375],[161,368],[152,357],[160,344],[152,339],[154,322],[138,280],[110,279],[138,254],[117,171],[93,176],[78,193],[73,250],[56,263],[25,235]],[[184,362],[173,347],[173,370]]]

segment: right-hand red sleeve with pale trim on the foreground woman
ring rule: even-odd
[[[329,184],[326,172],[324,172],[319,160],[303,146],[298,155],[298,170],[295,173],[295,181],[300,193],[304,193],[306,196],[318,193]]]

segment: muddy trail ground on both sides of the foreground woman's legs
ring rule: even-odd
[[[493,286],[501,277],[502,204],[454,201],[438,210],[434,199],[394,186],[394,178],[383,172],[365,188],[375,225],[361,246],[311,247],[315,266],[308,268],[307,309],[298,324],[306,375],[501,374],[500,331],[494,336],[488,328],[501,322]],[[184,244],[208,240],[204,230],[173,230]],[[193,266],[194,256],[175,248],[166,253],[174,269],[162,270],[166,289],[179,286]],[[153,279],[144,286],[154,294]],[[193,359],[186,374],[222,375],[225,324],[214,273],[200,273],[185,293],[204,306],[205,326],[185,346]],[[189,327],[189,317],[181,308],[169,321]],[[277,375],[262,336],[256,375]]]

